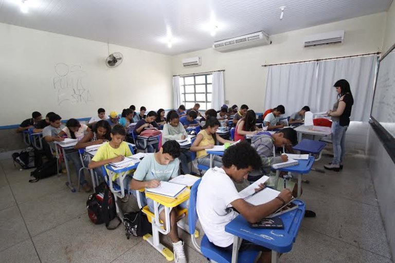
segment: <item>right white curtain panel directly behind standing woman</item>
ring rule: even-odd
[[[333,84],[345,79],[354,98],[350,120],[369,121],[376,63],[377,55],[318,62],[317,111],[332,109],[337,100]]]

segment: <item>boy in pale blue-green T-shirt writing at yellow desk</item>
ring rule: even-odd
[[[178,176],[180,148],[176,141],[167,141],[159,149],[159,152],[148,155],[139,163],[134,172],[130,187],[133,190],[153,188],[160,185],[160,181],[169,181]],[[147,204],[151,212],[154,212],[154,202],[147,198]],[[159,204],[159,218],[166,222],[164,206]],[[170,211],[170,232],[167,234],[173,243],[174,262],[187,262],[184,253],[184,241],[178,236],[176,208]]]

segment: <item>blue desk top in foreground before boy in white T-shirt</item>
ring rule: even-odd
[[[242,215],[238,215],[225,226],[225,231],[280,253],[289,252],[296,240],[306,210],[304,202],[294,200],[293,203],[298,204],[299,207],[279,215],[284,223],[284,229],[254,229]]]

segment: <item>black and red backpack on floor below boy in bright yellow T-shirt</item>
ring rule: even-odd
[[[121,219],[117,215],[115,208],[114,194],[111,193],[109,186],[102,182],[95,188],[95,194],[89,195],[86,200],[86,209],[88,217],[94,224],[105,223],[108,230],[114,230],[121,224]],[[118,219],[116,227],[109,227],[110,221]]]

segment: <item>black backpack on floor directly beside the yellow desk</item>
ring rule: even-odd
[[[143,236],[152,234],[152,227],[148,221],[147,215],[141,209],[137,212],[123,214],[123,226],[125,226],[126,238],[130,236]]]

